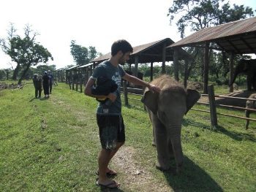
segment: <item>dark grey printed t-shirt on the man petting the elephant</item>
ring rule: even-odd
[[[124,77],[124,69],[120,65],[113,66],[110,61],[103,61],[95,69],[91,75],[91,79],[97,80],[98,77],[107,77],[110,80],[114,80],[118,89],[116,93],[116,101],[110,106],[99,103],[97,108],[97,114],[101,115],[120,115],[121,114],[121,77]]]

